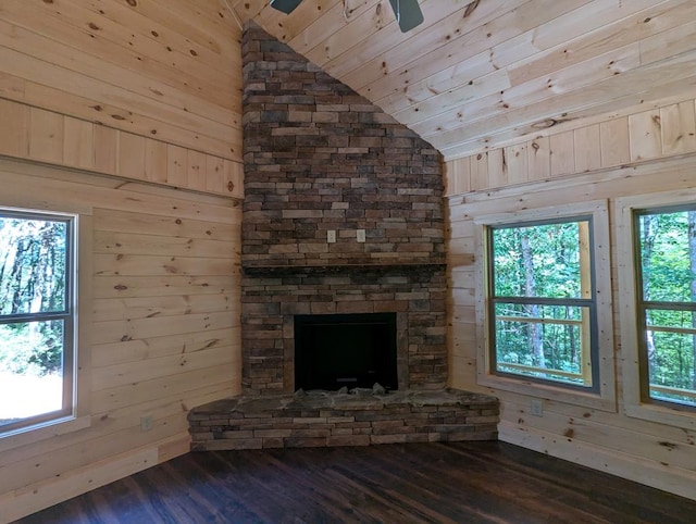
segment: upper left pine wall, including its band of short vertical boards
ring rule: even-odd
[[[8,0],[0,154],[240,198],[240,35],[222,0]]]

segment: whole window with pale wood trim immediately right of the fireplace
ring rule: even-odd
[[[616,411],[607,202],[492,205],[474,216],[478,384]]]

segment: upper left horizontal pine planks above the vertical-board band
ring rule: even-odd
[[[222,0],[4,0],[0,97],[240,161],[239,38]]]

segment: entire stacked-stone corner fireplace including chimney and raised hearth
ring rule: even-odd
[[[243,59],[244,396],[190,413],[192,449],[496,438],[495,398],[446,389],[440,154],[253,23]]]

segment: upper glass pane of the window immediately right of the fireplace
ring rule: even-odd
[[[582,298],[581,224],[493,228],[495,296]]]

